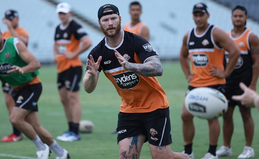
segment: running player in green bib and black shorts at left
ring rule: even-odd
[[[15,107],[10,122],[36,146],[38,159],[47,159],[50,149],[56,159],[70,158],[68,152],[53,140],[39,123],[38,99],[42,92],[38,77],[39,61],[18,38],[2,38],[0,32],[0,80],[12,87]]]

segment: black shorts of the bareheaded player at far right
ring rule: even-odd
[[[241,88],[229,88],[227,87],[225,96],[228,99],[228,107],[235,107],[236,105],[239,107],[245,107],[242,105],[240,101],[235,101],[232,99],[232,95],[242,95],[244,91]]]

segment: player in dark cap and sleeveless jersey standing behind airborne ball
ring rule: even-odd
[[[197,3],[193,7],[193,20],[196,26],[190,29],[183,37],[180,52],[180,63],[187,81],[190,83],[188,91],[195,87],[212,87],[222,93],[225,88],[225,77],[228,76],[236,65],[240,56],[234,41],[220,28],[208,24],[208,8],[204,3]],[[229,52],[229,63],[224,70],[224,49]],[[188,56],[190,55],[192,73]],[[189,157],[194,158],[192,142],[195,134],[193,116],[183,106],[183,139],[184,151]],[[220,135],[218,119],[208,120],[209,149],[203,159],[217,159],[216,147]]]

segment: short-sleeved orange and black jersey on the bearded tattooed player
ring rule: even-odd
[[[134,33],[123,31],[119,46],[111,48],[104,38],[88,55],[97,61],[102,56],[98,72],[113,83],[122,98],[120,111],[124,113],[146,113],[169,107],[166,94],[155,77],[144,77],[125,70],[114,54],[116,49],[130,63],[145,63],[151,57],[158,57],[146,39]],[[86,68],[86,73],[89,69]]]

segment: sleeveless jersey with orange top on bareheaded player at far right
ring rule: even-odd
[[[243,82],[247,86],[250,85],[253,76],[253,59],[249,45],[249,35],[253,33],[250,29],[245,28],[239,37],[232,37],[231,31],[228,32],[229,37],[235,41],[241,55],[239,56],[236,67],[229,76],[226,77],[227,86],[239,88],[239,83]],[[228,63],[229,53],[225,51],[226,62]]]

